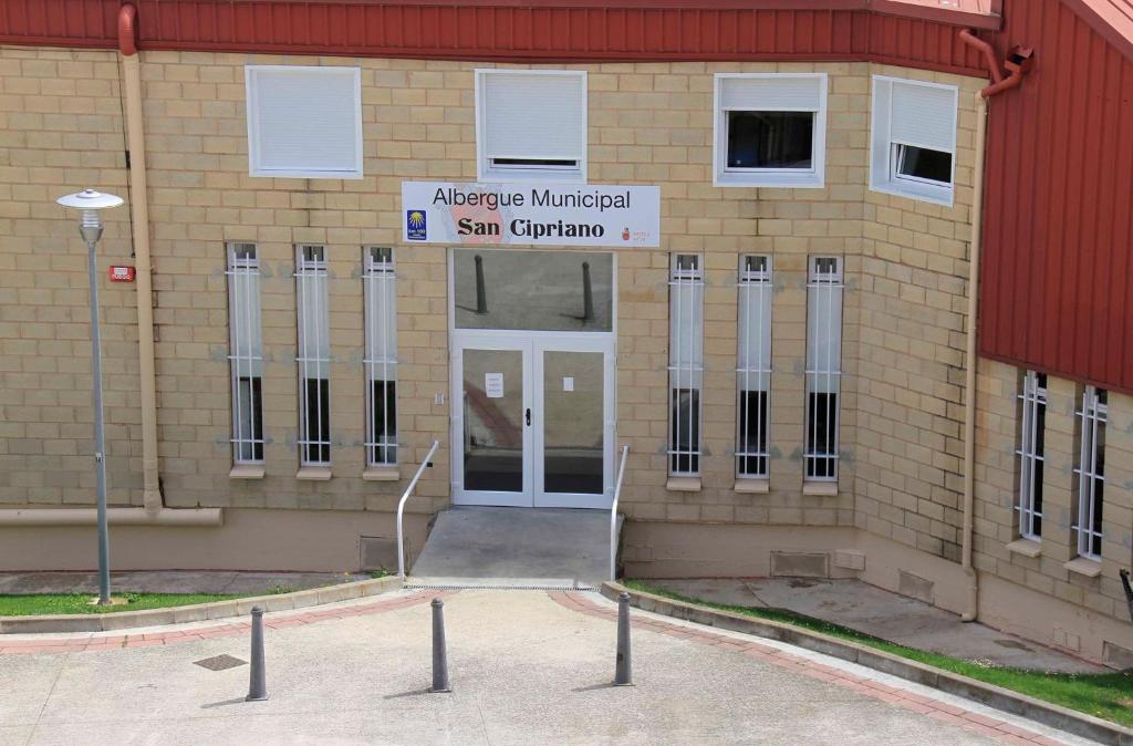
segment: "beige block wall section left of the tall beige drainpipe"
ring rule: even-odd
[[[140,503],[140,412],[118,54],[0,51],[0,505],[94,495],[86,246],[56,198],[86,186],[127,204],[99,245],[110,500]]]

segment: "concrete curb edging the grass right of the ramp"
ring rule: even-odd
[[[798,647],[824,653],[844,661],[866,666],[915,684],[965,697],[996,710],[1003,710],[1042,724],[1090,738],[1102,744],[1133,746],[1133,729],[1100,718],[1075,712],[1049,702],[1042,702],[994,684],[985,684],[966,676],[944,671],[910,661],[879,650],[809,631],[778,621],[755,619],[730,611],[717,611],[683,601],[674,601],[645,591],[627,588],[617,583],[603,583],[600,593],[617,600],[621,592],[630,594],[630,603],[645,611],[692,621],[708,627],[766,637]]]

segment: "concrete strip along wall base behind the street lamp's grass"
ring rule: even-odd
[[[276,588],[305,591],[337,583],[365,580],[358,573],[236,573],[216,570],[146,570],[112,573],[114,593],[225,593],[256,595]],[[97,593],[97,573],[0,573],[0,593]]]

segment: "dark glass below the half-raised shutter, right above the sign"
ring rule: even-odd
[[[727,112],[727,168],[809,169],[812,111]]]

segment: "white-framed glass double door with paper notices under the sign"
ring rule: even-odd
[[[460,334],[453,344],[453,502],[608,508],[613,340]]]

